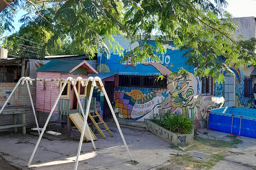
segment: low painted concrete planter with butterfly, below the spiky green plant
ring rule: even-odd
[[[172,131],[164,129],[149,119],[145,119],[146,129],[151,133],[163,138],[172,144],[191,144],[194,140],[194,133],[192,134],[175,134]]]

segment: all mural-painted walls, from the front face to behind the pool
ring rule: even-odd
[[[138,42],[130,45],[130,42],[124,40],[121,36],[115,37],[115,40],[124,47],[124,54],[129,53],[131,49],[138,45]],[[154,45],[153,41],[151,43]],[[98,61],[102,65],[101,68],[108,68],[107,72],[119,72],[121,75],[169,75],[179,71],[181,67],[187,69],[190,73],[187,77],[182,77],[182,75],[168,77],[166,89],[116,87],[114,98],[115,114],[123,119],[144,121],[146,118],[160,119],[166,112],[171,112],[193,118],[196,129],[206,127],[206,118],[208,116],[206,110],[219,108],[224,104],[223,84],[215,83],[213,94],[211,96],[202,96],[200,94],[202,88],[200,80],[198,77],[194,77],[194,68],[190,68],[185,64],[186,59],[182,58],[184,52],[175,48],[171,42],[166,44],[166,49],[165,54],[156,52],[156,55],[161,59],[160,62],[145,60],[143,64],[136,66],[132,65],[130,61],[119,64],[120,56],[113,52],[110,60],[107,60],[102,54],[98,54]],[[251,75],[253,68],[245,68],[243,71],[233,69],[236,75],[236,106],[252,108],[256,104],[255,99],[245,98],[243,94],[245,88],[243,72]]]

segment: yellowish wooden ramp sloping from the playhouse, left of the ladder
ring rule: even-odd
[[[80,131],[80,133],[82,133],[83,121],[84,121],[83,117],[79,113],[69,114],[69,117],[70,117],[71,121],[76,125],[76,127]],[[83,135],[84,140],[86,140],[87,142],[90,141],[89,132],[87,130],[88,128],[89,128],[89,126],[87,123],[86,130],[84,131],[84,135]],[[90,133],[92,134],[93,140],[97,140],[97,137],[94,135],[94,133],[91,129],[90,129]]]

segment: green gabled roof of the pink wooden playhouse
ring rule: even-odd
[[[56,73],[71,73],[78,67],[83,67],[88,74],[97,74],[92,66],[86,60],[52,60],[46,65],[38,68],[37,72],[56,72]]]

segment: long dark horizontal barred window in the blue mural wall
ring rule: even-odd
[[[166,77],[157,80],[157,75],[119,75],[119,86],[166,89]]]

